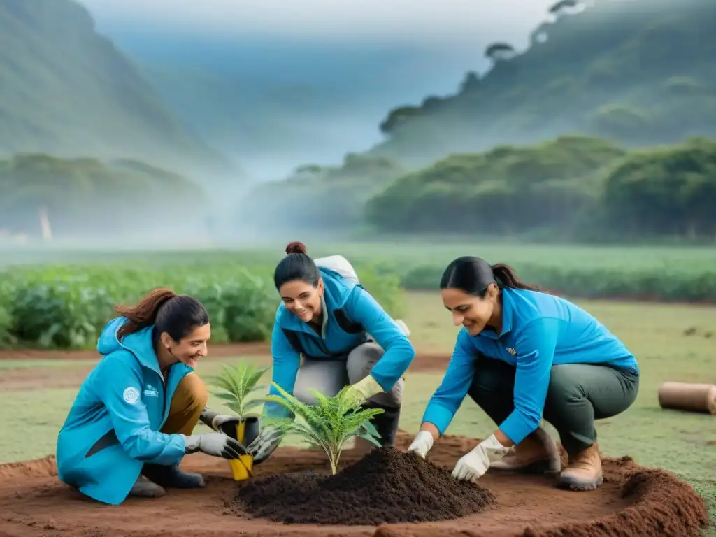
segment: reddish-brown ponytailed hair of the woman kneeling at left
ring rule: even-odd
[[[198,326],[209,322],[203,304],[192,296],[175,294],[171,289],[149,291],[136,306],[116,306],[120,316],[127,319],[117,330],[117,339],[155,326],[156,336],[167,332],[175,342]]]

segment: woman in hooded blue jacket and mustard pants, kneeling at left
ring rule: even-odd
[[[186,453],[228,459],[246,448],[223,432],[193,435],[201,419],[236,436],[237,418],[205,405],[207,390],[193,372],[207,354],[209,316],[190,296],[151,291],[105,327],[102,359],[89,373],[57,437],[57,475],[84,495],[117,505],[164,487],[199,488],[201,475],[180,472]],[[148,479],[147,479],[148,478]]]

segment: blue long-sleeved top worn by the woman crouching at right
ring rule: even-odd
[[[514,410],[500,424],[515,443],[542,419],[553,364],[609,364],[639,373],[637,360],[619,339],[571,302],[537,291],[502,289],[502,332],[458,333],[453,357],[428,402],[423,422],[442,435],[463,403],[480,367],[480,354],[516,367]],[[505,387],[506,388],[506,387]]]

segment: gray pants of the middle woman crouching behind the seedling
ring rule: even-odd
[[[385,354],[376,342],[359,345],[347,357],[337,359],[304,358],[294,385],[294,397],[306,405],[316,405],[316,397],[310,390],[318,390],[326,397],[333,397],[348,384],[355,384],[368,376],[377,362]],[[399,379],[390,392],[380,392],[370,397],[368,402],[380,407],[399,408],[402,405],[402,392],[405,381]]]

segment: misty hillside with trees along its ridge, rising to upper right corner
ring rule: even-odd
[[[492,47],[493,67],[483,77],[466,74],[457,94],[428,95],[422,105],[393,110],[382,122],[386,142],[352,155],[339,167],[300,166],[286,180],[253,190],[242,201],[241,212],[251,213],[259,226],[289,228],[290,207],[308,206],[310,200],[310,218],[301,215],[294,226],[357,229],[367,224],[366,203],[372,198],[383,199],[381,210],[397,215],[401,203],[420,195],[425,205],[416,213],[442,229],[445,214],[465,210],[458,211],[449,200],[472,200],[471,189],[487,176],[512,176],[519,183],[539,162],[518,159],[518,151],[505,147],[574,132],[605,137],[622,147],[716,135],[716,4],[711,0],[679,5],[601,0],[580,13],[558,13],[534,29],[532,42],[522,54],[508,44]],[[500,155],[506,152],[505,162],[513,164],[509,173],[463,170],[460,153],[479,160],[476,154],[493,148]],[[445,159],[448,155],[455,158]],[[541,155],[553,174],[565,166],[549,152]],[[427,193],[398,188],[412,185],[407,179],[411,170],[432,170],[429,165],[436,161],[437,171],[427,174]],[[422,171],[415,173],[422,177]],[[449,191],[455,174],[467,189],[463,193]],[[494,183],[488,186],[497,193],[485,203],[503,207],[495,199],[508,185]],[[568,191],[560,190],[558,198],[569,200],[565,207],[573,200]],[[381,198],[382,193],[391,195]],[[437,209],[430,212],[428,207],[442,207],[445,214],[431,220]],[[269,218],[277,212],[280,217]],[[430,227],[423,224],[422,231]]]

